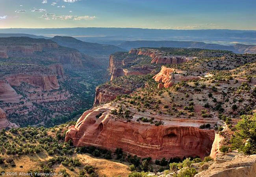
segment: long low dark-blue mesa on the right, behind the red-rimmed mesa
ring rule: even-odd
[[[224,46],[220,44],[206,44],[204,42],[190,41],[126,41],[122,42],[118,46],[126,50],[139,47],[173,47],[229,50],[235,53],[256,53],[256,45],[235,44]]]

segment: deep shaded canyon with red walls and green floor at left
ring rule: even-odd
[[[92,67],[95,58],[51,40],[7,37],[0,46],[0,107],[20,126],[49,125],[52,118],[89,109],[86,100],[107,78],[102,68]]]

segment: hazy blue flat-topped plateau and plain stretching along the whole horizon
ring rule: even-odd
[[[10,28],[0,33],[26,33],[47,37],[72,36],[82,41],[116,44],[115,41],[199,41],[232,45],[256,44],[254,30],[161,30],[142,28]],[[114,42],[111,42],[114,41]],[[111,43],[109,43],[111,42]],[[120,42],[121,43],[121,42]]]

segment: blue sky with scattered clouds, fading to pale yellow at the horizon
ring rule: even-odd
[[[255,0],[0,0],[0,28],[256,30]]]

